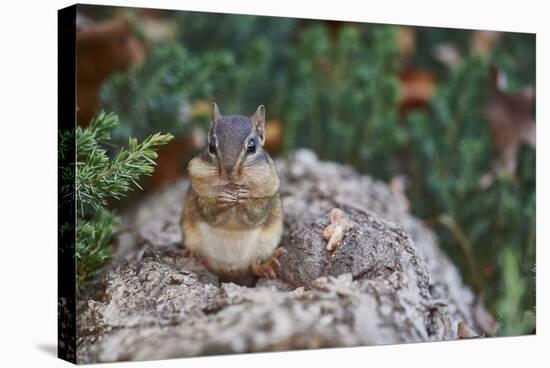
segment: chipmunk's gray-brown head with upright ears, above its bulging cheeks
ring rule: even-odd
[[[208,133],[207,157],[216,164],[221,177],[238,180],[243,171],[267,163],[265,143],[265,108],[258,106],[251,117],[222,116],[213,104],[212,126]]]

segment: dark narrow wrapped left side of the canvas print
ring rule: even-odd
[[[59,358],[76,363],[76,217],[74,165],[76,146],[76,5],[58,11],[58,349]],[[62,134],[72,134],[60,145]]]

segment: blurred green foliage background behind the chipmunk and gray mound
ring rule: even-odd
[[[115,142],[158,130],[206,128],[186,114],[194,101],[222,112],[267,106],[283,123],[282,154],[310,147],[323,159],[388,181],[410,180],[412,212],[433,224],[463,277],[500,322],[501,335],[534,330],[535,152],[523,148],[516,177],[487,190],[479,179],[496,159],[483,107],[491,64],[509,91],[535,82],[535,37],[503,34],[488,56],[471,53],[472,31],[416,29],[413,64],[438,80],[427,108],[398,113],[397,27],[286,18],[173,12],[176,37],[152,47],[147,62],[108,81],[102,107],[121,120]],[[463,62],[449,69],[433,46],[452,42]]]

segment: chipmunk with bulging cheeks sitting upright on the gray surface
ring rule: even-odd
[[[187,167],[191,185],[181,227],[184,255],[222,281],[275,278],[283,232],[279,177],[265,143],[265,108],[222,116],[214,103],[208,147]]]

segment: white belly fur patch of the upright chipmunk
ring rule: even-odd
[[[261,228],[225,230],[201,222],[198,230],[202,238],[200,252],[217,267],[226,270],[248,268],[266,252],[261,241]]]

